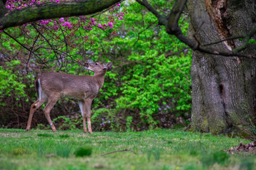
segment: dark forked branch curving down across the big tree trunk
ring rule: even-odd
[[[243,38],[244,43],[240,45],[239,47],[236,47],[233,51],[230,50],[220,50],[216,49],[215,47],[210,47],[210,45],[213,45],[218,42],[223,42],[225,40],[220,40],[218,42],[213,42],[212,44],[209,45],[201,45],[201,42],[199,42],[196,38],[188,38],[186,35],[183,35],[180,26],[178,26],[178,20],[181,17],[181,14],[183,12],[183,8],[186,5],[187,0],[179,0],[176,1],[174,4],[173,8],[171,9],[171,12],[169,13],[168,17],[161,16],[158,11],[156,11],[155,8],[153,8],[148,1],[146,0],[136,0],[139,4],[142,4],[142,6],[145,6],[151,13],[156,16],[156,18],[159,21],[159,25],[163,25],[166,27],[166,33],[169,33],[169,35],[175,35],[178,40],[181,40],[181,42],[185,43],[188,45],[188,47],[191,47],[192,50],[197,50],[199,52],[205,52],[211,55],[223,55],[225,57],[247,57],[247,58],[253,58],[256,59],[256,56],[253,55],[245,55],[241,52],[242,50],[245,50],[245,48],[249,44],[250,38],[252,38],[253,35],[256,33],[256,28],[250,31],[248,35],[238,35],[238,36],[233,36],[232,38],[227,38],[228,39],[238,39],[238,38]],[[200,29],[199,29],[200,30]],[[195,37],[195,36],[194,36]]]

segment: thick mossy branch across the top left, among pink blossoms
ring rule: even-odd
[[[80,0],[62,2],[58,4],[44,4],[41,6],[29,6],[28,8],[4,13],[0,18],[0,30],[14,26],[21,26],[24,23],[30,23],[42,19],[90,15],[92,13],[102,11],[105,8],[109,8],[113,4],[117,4],[119,1],[122,0]]]

